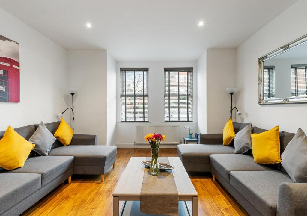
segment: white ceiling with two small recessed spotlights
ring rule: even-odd
[[[237,47],[296,1],[0,0],[0,7],[66,49],[106,49],[117,61],[189,61],[207,48]]]

